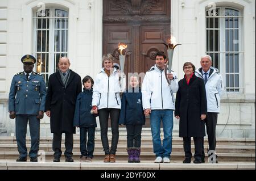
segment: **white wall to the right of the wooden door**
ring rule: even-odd
[[[172,1],[171,31],[176,37],[174,70],[183,78],[182,66],[191,61],[198,68],[205,54],[205,7],[209,3],[242,7],[244,16],[243,87],[239,94],[224,92],[218,115],[217,136],[255,137],[255,1],[181,0]],[[179,122],[175,120],[175,129]]]

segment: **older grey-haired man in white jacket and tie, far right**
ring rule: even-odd
[[[218,113],[220,113],[220,96],[223,91],[222,78],[218,70],[212,67],[212,57],[205,55],[201,57],[201,68],[197,69],[195,74],[197,77],[204,79],[205,89],[207,92],[207,118],[205,125],[207,127],[207,135],[209,142],[208,155],[212,156],[210,162],[217,163],[216,149],[216,125]],[[204,144],[203,144],[203,157],[204,162]],[[215,157],[216,156],[216,157]]]

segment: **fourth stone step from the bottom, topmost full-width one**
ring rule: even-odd
[[[111,142],[112,136],[108,136],[108,138]],[[30,142],[30,137],[26,137],[26,141]],[[64,139],[62,142],[64,142]],[[126,142],[126,136],[119,136],[118,144],[126,144]],[[0,144],[16,144],[16,138],[11,136],[0,137]],[[52,137],[40,137],[40,144],[52,144]],[[80,138],[77,135],[74,136],[74,144],[80,144]],[[95,144],[101,144],[100,135],[96,134]],[[151,135],[144,137],[142,136],[142,144],[152,144]],[[172,144],[183,145],[183,140],[180,137],[173,137]],[[206,138],[204,139],[204,145],[208,145],[208,140]],[[217,145],[255,145],[255,138],[217,138]]]

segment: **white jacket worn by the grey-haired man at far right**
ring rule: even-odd
[[[195,74],[197,77],[204,79],[201,69],[197,69]],[[207,112],[217,112],[220,113],[220,98],[223,91],[222,78],[218,73],[218,69],[210,67],[212,74],[209,75],[208,81],[205,84],[205,89],[207,92]]]

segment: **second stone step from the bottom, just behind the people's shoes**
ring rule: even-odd
[[[0,151],[0,159],[11,159],[15,160],[18,158],[19,153],[18,151]],[[205,155],[205,160],[207,161],[208,157]],[[45,157],[46,161],[51,161],[53,159],[53,151],[44,151],[39,152],[39,159]],[[96,159],[104,159],[104,151],[94,151],[94,158]],[[117,151],[116,157],[120,161],[126,161],[127,160],[127,152],[126,151]],[[61,159],[65,159],[64,155],[61,157]],[[76,161],[79,161],[80,159],[80,152],[74,151],[73,152],[73,159]],[[152,152],[143,152],[141,153],[141,159],[144,161],[154,161],[155,154]],[[175,153],[172,152],[171,154],[171,160],[174,161],[180,161],[182,162],[184,159],[184,153]],[[218,161],[221,162],[255,162],[255,153],[218,153]]]

